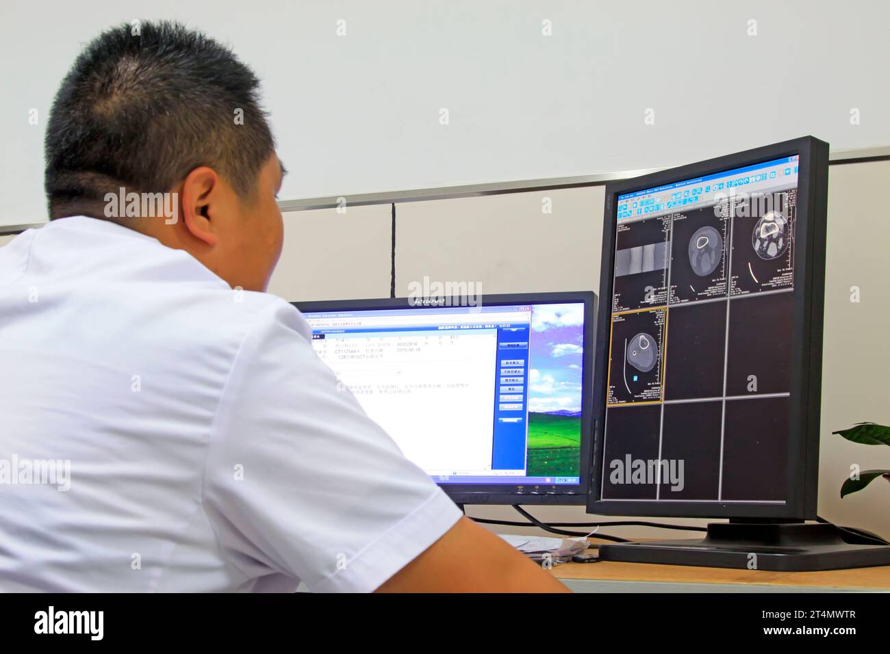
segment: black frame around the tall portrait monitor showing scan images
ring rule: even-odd
[[[669,502],[608,500],[601,497],[603,429],[609,361],[613,267],[619,194],[651,189],[670,182],[750,166],[798,155],[796,256],[794,261],[794,311],[791,351],[788,439],[788,480],[785,504],[731,502]],[[716,157],[619,182],[605,189],[603,258],[600,295],[605,309],[597,319],[594,373],[594,464],[587,512],[600,515],[674,516],[774,520],[812,520],[816,517],[819,473],[819,420],[821,403],[822,314],[825,295],[825,238],[828,203],[829,145],[812,136],[783,141],[762,148]],[[604,299],[603,299],[604,298]]]

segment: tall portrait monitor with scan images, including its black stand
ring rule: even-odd
[[[862,561],[830,525],[802,524],[816,518],[827,182],[828,144],[806,137],[607,185],[588,512],[731,520],[692,546],[602,558]]]

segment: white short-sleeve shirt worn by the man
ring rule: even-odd
[[[0,247],[0,590],[363,592],[432,545],[457,506],[310,341],[111,222]]]

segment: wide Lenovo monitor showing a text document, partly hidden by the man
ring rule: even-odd
[[[578,504],[592,292],[295,303],[312,345],[458,504]]]

